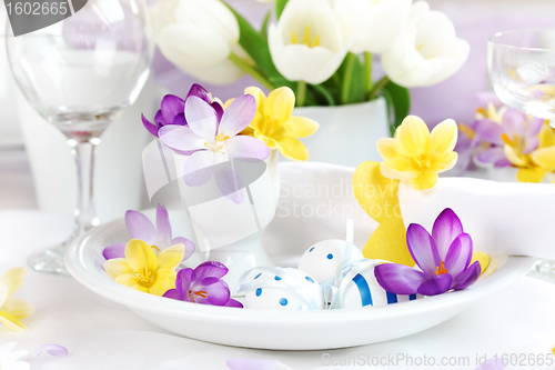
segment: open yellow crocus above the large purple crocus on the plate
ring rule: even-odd
[[[430,133],[421,118],[408,116],[395,138],[377,140],[377,150],[384,159],[380,170],[385,178],[410,181],[415,189],[431,189],[438,173],[455,166],[456,140],[457,126],[452,119],[441,122]]]

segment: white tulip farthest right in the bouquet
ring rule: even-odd
[[[406,88],[436,84],[453,76],[470,52],[444,13],[430,10],[425,1],[415,2],[405,29],[382,54],[387,77]]]

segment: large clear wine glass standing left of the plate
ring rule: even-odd
[[[63,274],[67,246],[99,224],[94,149],[110,122],[137,100],[150,74],[154,44],[148,6],[144,0],[89,0],[70,18],[31,33],[13,37],[8,26],[7,49],[21,92],[67,137],[75,160],[73,233],[29,259],[38,271]]]

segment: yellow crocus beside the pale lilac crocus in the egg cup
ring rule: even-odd
[[[259,88],[246,88],[245,94],[256,99],[256,114],[243,131],[264,142],[270,149],[278,149],[283,157],[305,161],[309,150],[299,140],[316,132],[319,124],[304,117],[292,117],[295,94],[287,88],[273,90],[268,98]]]

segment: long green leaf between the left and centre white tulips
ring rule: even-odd
[[[268,46],[266,39],[264,39],[240,13],[238,13],[233,8],[229,7],[230,10],[235,16],[240,38],[239,44],[246,51],[246,53],[254,60],[254,63],[260,69],[260,71],[266,77],[274,88],[286,86],[291,89],[295,89],[296,84],[285,79],[275,68],[272,56],[270,54],[270,48]]]

